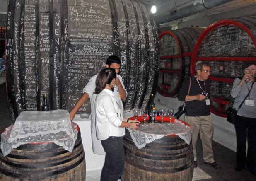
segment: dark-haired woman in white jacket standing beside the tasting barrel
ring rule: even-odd
[[[96,79],[95,119],[96,135],[106,152],[101,181],[117,181],[124,170],[123,136],[125,127],[136,129],[139,123],[123,121],[120,106],[111,89],[115,86],[116,72],[104,68]]]

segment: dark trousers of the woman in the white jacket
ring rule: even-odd
[[[111,136],[101,141],[106,152],[105,162],[101,171],[101,181],[117,181],[124,170],[123,136]]]

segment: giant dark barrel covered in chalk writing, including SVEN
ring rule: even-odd
[[[147,106],[158,75],[156,25],[135,0],[10,0],[6,26],[7,95],[14,120],[21,111],[68,109],[89,78],[121,58],[125,109]],[[80,109],[90,112],[88,101]]]

